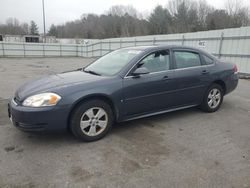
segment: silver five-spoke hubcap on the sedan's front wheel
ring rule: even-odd
[[[102,133],[108,125],[108,115],[100,107],[88,109],[81,117],[80,126],[84,134],[97,136]]]

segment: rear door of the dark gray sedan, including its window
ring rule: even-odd
[[[204,90],[204,71],[199,53],[193,51],[174,50],[176,84],[176,105],[185,106],[199,104]]]

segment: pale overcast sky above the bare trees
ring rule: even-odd
[[[83,13],[101,14],[113,5],[132,5],[142,13],[149,13],[156,5],[167,4],[167,0],[44,0],[46,30],[52,23],[60,24],[80,18]],[[226,0],[207,0],[216,8],[223,8]],[[249,0],[243,0],[250,4]],[[34,20],[39,30],[43,29],[42,0],[0,0],[0,23],[15,17],[20,22]]]

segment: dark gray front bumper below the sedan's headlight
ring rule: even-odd
[[[62,106],[32,108],[8,103],[8,114],[13,125],[27,132],[66,130],[69,108]]]

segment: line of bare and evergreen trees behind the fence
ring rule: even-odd
[[[169,0],[143,15],[132,6],[112,6],[104,14],[82,14],[65,24],[52,24],[47,35],[58,38],[102,39],[140,35],[171,34],[248,26],[248,7],[241,0],[227,0],[216,9],[206,0]],[[9,19],[0,25],[2,34],[38,34],[34,21],[19,24]]]

